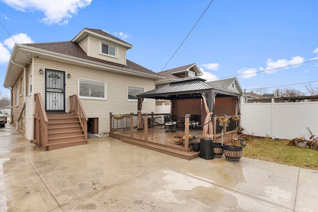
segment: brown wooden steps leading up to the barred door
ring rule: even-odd
[[[48,142],[45,150],[86,144],[87,139],[75,113],[47,114]]]

